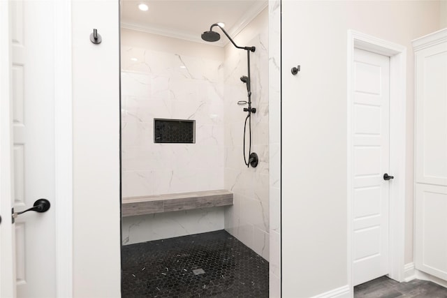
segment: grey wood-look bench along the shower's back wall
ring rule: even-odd
[[[122,216],[136,216],[170,211],[191,210],[233,204],[230,191],[196,191],[167,195],[146,195],[122,199]]]

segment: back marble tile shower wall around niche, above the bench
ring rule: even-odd
[[[220,64],[122,48],[124,197],[223,188]],[[196,144],[154,144],[154,118],[196,120]]]

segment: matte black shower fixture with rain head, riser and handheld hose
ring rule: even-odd
[[[202,33],[202,39],[208,42],[215,42],[219,39],[221,39],[221,36],[219,33],[217,33],[216,31],[212,31],[213,27],[219,27],[223,33],[225,33],[226,37],[228,37],[228,39],[230,40],[231,43],[233,43],[233,45],[235,47],[237,47],[238,49],[241,50],[246,50],[247,51],[247,75],[242,75],[242,77],[240,77],[240,80],[247,84],[247,97],[248,97],[248,101],[245,100],[239,100],[237,102],[238,105],[249,105],[248,107],[244,107],[244,112],[248,112],[247,117],[245,118],[245,123],[244,123],[244,163],[245,165],[247,165],[247,167],[249,167],[251,165],[251,167],[256,167],[258,165],[258,154],[256,154],[255,152],[251,152],[251,113],[256,113],[256,108],[255,107],[251,107],[251,79],[250,79],[250,52],[254,52],[256,50],[256,47],[240,47],[238,45],[236,45],[236,43],[234,42],[234,40],[232,38],[230,38],[230,36],[228,35],[228,33],[225,31],[225,29],[223,29],[221,27],[221,25],[219,24],[212,24],[210,27],[210,31],[205,31]],[[247,121],[249,122],[249,160],[247,161],[247,157],[245,155],[245,136],[247,135]]]

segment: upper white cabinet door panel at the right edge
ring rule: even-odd
[[[447,185],[447,43],[416,55],[416,182]]]

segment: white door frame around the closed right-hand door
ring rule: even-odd
[[[366,50],[390,57],[390,172],[398,179],[390,183],[389,265],[388,276],[404,281],[405,253],[405,177],[406,177],[406,47],[348,31],[347,49],[347,208],[348,208],[348,283],[353,297],[353,78],[354,49]],[[402,177],[402,178],[401,178]]]

